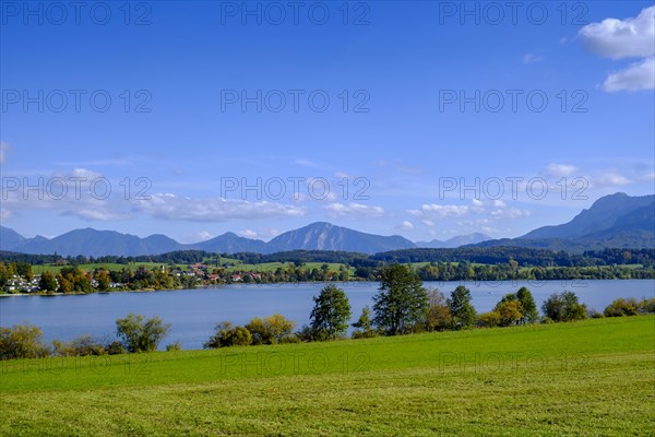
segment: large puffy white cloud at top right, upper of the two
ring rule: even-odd
[[[655,7],[632,19],[606,19],[582,27],[579,35],[587,50],[611,59],[655,55]]]

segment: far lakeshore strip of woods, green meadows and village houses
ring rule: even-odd
[[[291,251],[153,257],[0,253],[0,293],[70,294],[176,290],[219,284],[380,281],[385,265],[407,264],[421,281],[655,279],[655,250],[569,255],[522,248],[408,249],[373,256]]]

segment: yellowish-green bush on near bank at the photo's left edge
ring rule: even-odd
[[[50,350],[44,345],[40,328],[24,323],[0,328],[0,359],[40,358]]]

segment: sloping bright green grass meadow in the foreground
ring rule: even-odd
[[[0,365],[3,436],[655,429],[654,316]]]

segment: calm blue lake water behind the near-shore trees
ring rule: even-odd
[[[159,316],[171,323],[165,344],[179,341],[183,349],[202,349],[214,326],[223,320],[247,323],[253,317],[279,312],[298,327],[309,322],[312,296],[324,284],[226,285],[216,288],[167,292],[95,293],[73,296],[5,296],[0,298],[0,326],[29,322],[41,328],[46,341],[71,340],[80,334],[114,338],[116,319],[129,312]],[[372,307],[378,283],[337,283],[353,307],[355,321],[365,305]],[[456,282],[426,282],[446,296]],[[464,283],[478,312],[489,311],[507,293],[527,286],[540,307],[552,293],[569,290],[588,308],[603,310],[617,297],[655,297],[655,280],[627,281],[514,281]]]

